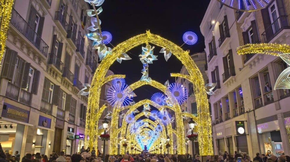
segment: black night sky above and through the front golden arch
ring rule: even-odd
[[[192,31],[198,36],[195,45],[184,45],[184,50],[190,49],[191,53],[204,51],[204,38],[200,33],[199,25],[210,0],[106,0],[102,4],[103,11],[99,14],[102,31],[112,33],[112,44],[115,46],[133,36],[146,32],[158,34],[177,45],[183,44],[184,32]],[[108,44],[109,47],[111,47]],[[143,44],[145,47],[145,44]],[[132,59],[123,60],[110,67],[115,74],[125,74],[128,85],[140,80],[142,63],[138,55],[141,54],[141,46],[126,52]],[[154,55],[158,55],[153,64],[149,64],[149,77],[162,84],[169,79],[170,83],[175,78],[170,77],[171,72],[180,72],[182,64],[172,55],[168,62],[163,54],[159,53],[161,47],[155,47]],[[142,86],[134,90],[139,100],[150,99],[158,92],[151,86]]]

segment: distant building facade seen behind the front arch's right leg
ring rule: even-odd
[[[204,78],[204,83],[206,84],[208,82],[207,79],[207,75],[205,73],[205,70],[207,69],[206,65],[206,53],[205,52],[199,52],[199,53],[193,53],[191,54],[191,59],[194,60],[194,63],[196,64],[196,66],[199,68],[200,72],[202,73],[202,76]],[[180,71],[181,74],[186,74],[188,75],[188,72],[185,68],[185,66],[183,65]],[[182,111],[186,111],[189,113],[194,114],[195,116],[197,116],[197,105],[196,105],[196,99],[195,99],[195,95],[194,95],[194,89],[193,89],[193,84],[191,82],[189,82],[188,80],[178,77],[176,78],[176,82],[180,83],[181,85],[183,85],[184,87],[186,87],[187,91],[188,91],[188,99],[186,100],[185,103],[183,103],[181,105],[181,110]],[[174,113],[174,112],[172,112]],[[173,115],[173,114],[171,114]],[[183,124],[184,124],[184,130],[185,130],[185,135],[186,133],[190,133],[189,131],[189,124],[188,124],[188,120],[183,120]],[[176,128],[176,123],[173,123],[173,128]],[[176,146],[176,136],[173,136],[173,142],[174,142],[174,146]],[[176,150],[176,147],[174,147]],[[187,142],[186,143],[186,153],[191,154],[192,156],[199,155],[199,145],[198,145],[198,141],[194,141],[194,142]]]

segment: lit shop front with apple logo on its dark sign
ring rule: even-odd
[[[51,118],[39,115],[36,132],[34,153],[45,154],[48,129],[51,127]]]

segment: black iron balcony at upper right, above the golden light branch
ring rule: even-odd
[[[265,32],[262,33],[262,39],[264,43],[269,43],[274,37],[276,37],[283,29],[290,29],[287,20],[288,16],[280,16],[276,19]]]

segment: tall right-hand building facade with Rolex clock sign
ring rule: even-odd
[[[210,96],[215,154],[290,153],[289,90],[272,90],[286,63],[272,55],[236,54],[237,47],[248,43],[289,44],[289,14],[288,0],[273,0],[254,12],[210,1],[200,29],[207,75],[217,83]],[[237,130],[241,124],[245,131]]]

